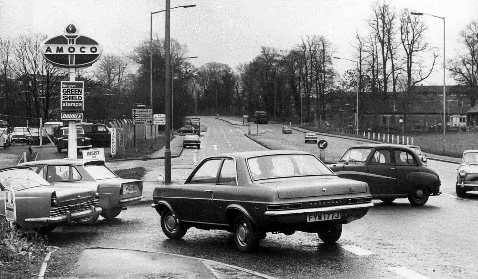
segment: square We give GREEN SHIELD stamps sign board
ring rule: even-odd
[[[60,83],[60,110],[83,111],[85,109],[85,83],[62,81]]]

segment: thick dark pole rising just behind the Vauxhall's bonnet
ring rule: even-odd
[[[196,7],[196,5],[185,5],[178,7]],[[174,8],[178,8],[174,7]],[[174,9],[173,8],[173,9]],[[166,16],[164,24],[164,112],[166,114],[165,127],[164,127],[164,183],[171,184],[171,145],[170,145],[170,132],[171,132],[171,96],[169,91],[169,64],[171,61],[170,50],[170,30],[171,30],[171,0],[166,0]]]

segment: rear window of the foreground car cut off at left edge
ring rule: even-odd
[[[49,182],[31,169],[11,169],[0,172],[0,183],[2,187],[10,185],[14,191],[40,185],[50,185]]]

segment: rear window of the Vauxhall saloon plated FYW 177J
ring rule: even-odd
[[[247,162],[252,180],[334,174],[311,154],[267,155],[249,158]]]

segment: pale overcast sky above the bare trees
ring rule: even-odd
[[[185,44],[190,62],[208,62],[235,68],[260,54],[261,46],[291,49],[307,35],[325,35],[337,47],[336,56],[354,59],[354,35],[369,32],[373,0],[171,0],[171,37]],[[478,20],[478,0],[392,0],[396,11],[412,11],[445,17],[446,59],[460,47],[459,33]],[[103,45],[103,53],[126,54],[142,40],[149,40],[150,12],[165,8],[164,0],[0,0],[0,36],[43,32],[63,33],[73,21],[79,33]],[[164,37],[164,12],[153,15],[153,33]],[[443,20],[423,16],[427,41],[443,54]],[[427,82],[442,85],[443,57]],[[337,60],[343,72],[355,67]],[[452,84],[447,80],[447,84]]]

